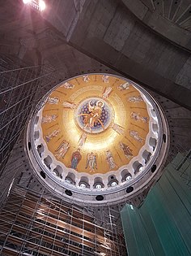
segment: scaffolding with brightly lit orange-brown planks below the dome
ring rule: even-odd
[[[102,227],[96,208],[87,213],[45,189],[34,194],[15,186],[0,214],[0,254],[125,256],[124,237],[108,215]]]

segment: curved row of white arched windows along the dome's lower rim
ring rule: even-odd
[[[157,141],[155,138],[151,138],[151,145],[153,146],[153,150],[156,146]],[[53,163],[53,159],[47,155],[44,157],[45,147],[41,143],[40,145],[37,145],[36,147],[37,152],[41,158],[42,163],[44,163],[44,166],[49,171],[50,174],[53,174],[54,177],[56,177],[58,180],[65,181],[68,184],[73,184],[75,186],[78,186],[81,189],[104,189],[108,187],[114,187],[117,184],[121,184],[124,182],[128,182],[129,180],[132,180],[132,174],[128,171],[127,168],[124,168],[120,175],[109,175],[106,179],[103,179],[100,176],[97,176],[93,179],[93,181],[90,181],[88,176],[81,176],[80,178],[76,178],[76,175],[72,171],[66,171],[63,170],[63,168],[60,165],[55,166]],[[134,169],[134,176],[138,174],[138,172],[144,170],[144,165],[149,162],[149,160],[152,157],[152,153],[144,150],[142,153],[142,163],[139,163],[138,161],[135,161],[133,163],[133,169]],[[45,172],[42,172],[44,178],[45,178]],[[76,182],[76,180],[79,180]]]

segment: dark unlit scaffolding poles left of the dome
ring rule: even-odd
[[[30,113],[57,72],[0,55],[0,176]]]

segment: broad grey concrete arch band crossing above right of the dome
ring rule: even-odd
[[[191,108],[190,53],[155,34],[120,1],[87,0],[69,43]]]

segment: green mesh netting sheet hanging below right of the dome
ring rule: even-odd
[[[191,255],[191,191],[172,164],[140,208],[125,205],[121,220],[129,256]]]

